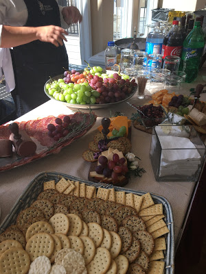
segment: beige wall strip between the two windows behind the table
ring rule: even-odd
[[[104,51],[113,40],[113,10],[111,0],[91,0],[92,55]]]

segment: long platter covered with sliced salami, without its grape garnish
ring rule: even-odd
[[[60,114],[58,115],[58,118],[63,119],[64,116],[68,115]],[[54,139],[49,138],[47,130],[47,125],[49,123],[54,123],[54,125],[56,125],[56,116],[50,115],[42,119],[22,121],[21,123],[16,122],[19,124],[19,129],[22,129],[23,132],[26,132],[27,135],[29,135],[30,138],[36,143],[36,153],[23,158],[17,155],[15,151],[13,151],[11,157],[0,158],[0,172],[13,169],[16,166],[28,164],[34,160],[44,158],[49,154],[60,152],[63,147],[67,147],[71,144],[71,142],[84,136],[84,134],[86,134],[89,129],[95,125],[97,118],[93,112],[88,114],[84,112],[75,112],[69,116],[71,116],[73,119],[76,119],[76,121],[80,124],[78,126],[72,126],[69,134],[60,138],[58,141],[54,141]],[[9,125],[0,126],[0,139],[10,138],[11,132],[8,126]]]

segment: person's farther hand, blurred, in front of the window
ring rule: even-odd
[[[63,8],[62,15],[67,25],[82,22],[82,15],[80,14],[80,11],[78,10],[78,8],[73,7],[73,5]]]

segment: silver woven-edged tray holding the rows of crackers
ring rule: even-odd
[[[80,179],[77,177],[73,177],[71,175],[67,175],[64,173],[56,173],[56,172],[43,172],[38,174],[30,184],[25,188],[23,191],[23,194],[19,197],[19,199],[16,201],[12,209],[10,210],[10,213],[8,216],[5,217],[3,223],[0,226],[0,234],[5,231],[5,229],[9,225],[13,225],[16,223],[16,218],[21,212],[21,210],[24,210],[25,208],[30,207],[30,205],[36,201],[36,198],[38,197],[39,193],[43,191],[43,182],[47,182],[50,180],[55,180],[57,183],[62,177],[65,179],[70,179],[73,181],[79,181],[83,182],[90,186],[95,186],[95,188],[115,188],[117,191],[125,191],[126,193],[134,193],[136,195],[144,195],[146,192],[144,191],[136,191],[131,190],[128,188],[122,188],[119,186],[113,186],[111,184],[104,184],[104,183],[95,183],[95,182],[89,182],[84,179]],[[170,232],[165,235],[166,240],[166,250],[164,252],[165,256],[165,274],[174,274],[174,222],[173,222],[173,216],[172,216],[172,208],[170,206],[170,203],[167,199],[164,197],[161,197],[159,195],[155,195],[151,193],[152,199],[155,203],[162,203],[163,204],[163,214],[165,215],[165,223],[168,226],[168,229]],[[3,210],[1,208],[1,210]]]

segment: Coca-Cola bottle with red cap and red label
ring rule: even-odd
[[[161,51],[163,60],[168,55],[181,57],[182,47],[183,36],[181,29],[179,28],[179,21],[174,20],[172,23],[172,28],[163,39],[163,46]]]

